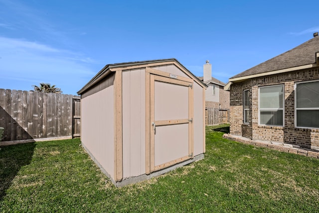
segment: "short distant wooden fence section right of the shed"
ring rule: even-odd
[[[206,108],[206,125],[229,123],[229,109]]]

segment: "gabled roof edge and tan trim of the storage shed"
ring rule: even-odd
[[[200,83],[204,88],[207,88],[206,84],[204,84],[201,80],[199,80],[193,73],[191,73],[186,67],[184,67],[177,59],[168,58],[168,59],[158,59],[158,60],[107,64],[77,93],[79,95],[84,93],[93,85],[95,85],[97,82],[101,81],[105,76],[109,75],[111,72],[114,72],[116,70],[125,70],[125,69],[147,67],[147,66],[160,66],[165,64],[175,64],[177,67],[181,68],[184,72],[186,72],[188,76],[191,76],[194,80]]]

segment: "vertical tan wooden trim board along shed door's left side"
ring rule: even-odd
[[[145,73],[145,173],[150,174],[150,73]]]

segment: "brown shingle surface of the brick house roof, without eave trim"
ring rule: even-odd
[[[254,74],[261,74],[275,70],[297,67],[316,63],[316,52],[319,52],[319,36],[316,36],[305,43],[273,57],[257,66],[243,71],[231,78],[244,77]],[[230,78],[230,79],[231,79]]]

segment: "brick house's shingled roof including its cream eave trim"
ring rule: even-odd
[[[264,75],[278,74],[318,66],[319,64],[319,36],[305,43],[273,57],[229,79],[225,89],[229,89],[232,82]]]

